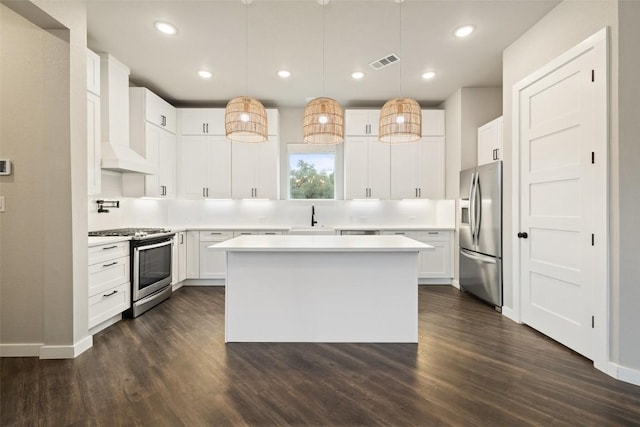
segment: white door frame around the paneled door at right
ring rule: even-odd
[[[512,224],[513,229],[508,234],[512,241],[512,285],[513,285],[513,309],[508,312],[512,320],[522,323],[522,292],[521,292],[521,266],[520,266],[520,240],[516,238],[516,233],[520,229],[520,94],[531,84],[547,76],[563,65],[571,62],[582,54],[595,50],[595,68],[597,78],[603,78],[604,85],[598,91],[596,105],[596,162],[594,164],[596,174],[596,187],[594,197],[596,198],[598,209],[594,212],[595,224],[593,232],[596,241],[601,244],[594,246],[597,259],[602,262],[596,266],[596,277],[594,277],[595,287],[592,295],[588,298],[593,304],[593,314],[595,316],[594,342],[593,342],[593,362],[597,369],[609,373],[610,362],[610,274],[609,274],[609,30],[607,27],[601,29],[578,45],[569,49],[565,53],[551,60],[547,64],[534,71],[529,76],[513,85],[512,90]],[[602,76],[600,76],[602,74]]]

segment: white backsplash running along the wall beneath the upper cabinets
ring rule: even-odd
[[[159,200],[122,197],[122,175],[102,175],[102,194],[89,197],[89,230],[122,227],[455,227],[454,200]],[[118,200],[120,208],[98,213],[96,200]]]

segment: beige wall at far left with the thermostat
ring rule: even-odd
[[[0,5],[0,156],[15,168],[0,181],[0,343],[73,355],[88,337],[86,10],[3,3],[24,17]]]

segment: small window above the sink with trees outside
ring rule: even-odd
[[[289,199],[335,199],[335,146],[288,144]]]

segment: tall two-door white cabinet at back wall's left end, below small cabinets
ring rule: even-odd
[[[180,195],[231,198],[231,142],[224,136],[180,138]]]

